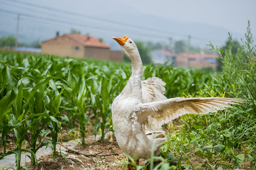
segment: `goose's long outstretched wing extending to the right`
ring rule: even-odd
[[[209,113],[231,108],[244,99],[224,97],[176,97],[138,105],[137,121],[146,125],[149,130],[157,130],[163,124],[187,113]]]

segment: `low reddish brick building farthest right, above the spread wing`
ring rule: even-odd
[[[180,53],[177,54],[176,62],[177,66],[180,67],[216,67],[216,58],[218,58],[218,54],[187,54]]]

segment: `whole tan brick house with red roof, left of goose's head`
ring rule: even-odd
[[[121,51],[110,50],[110,46],[100,39],[79,34],[64,34],[43,41],[42,53],[56,56],[70,56],[77,58],[108,59],[122,61]]]

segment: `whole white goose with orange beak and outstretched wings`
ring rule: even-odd
[[[112,118],[118,145],[139,163],[140,158],[159,155],[160,146],[166,141],[161,126],[187,113],[209,113],[230,108],[243,99],[222,97],[165,97],[165,84],[153,77],[141,81],[143,66],[135,43],[125,36],[113,37],[131,60],[131,76],[121,94],[112,103]],[[151,130],[146,133],[145,129]],[[154,143],[154,145],[153,145]],[[130,166],[128,167],[131,168]]]

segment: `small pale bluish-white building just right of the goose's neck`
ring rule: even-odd
[[[154,63],[163,64],[167,62],[167,65],[173,63],[176,66],[176,54],[170,53],[170,50],[156,49],[151,52]]]

